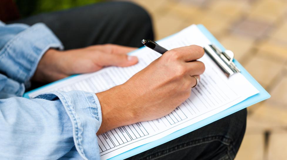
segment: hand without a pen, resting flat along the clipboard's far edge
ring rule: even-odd
[[[32,80],[53,82],[73,74],[95,72],[105,66],[134,65],[137,57],[127,56],[127,53],[135,49],[113,44],[66,51],[49,49],[40,60]]]

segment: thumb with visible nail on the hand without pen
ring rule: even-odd
[[[138,59],[135,56],[128,56],[125,54],[105,54],[100,60],[100,65],[126,67],[135,65],[137,62]]]

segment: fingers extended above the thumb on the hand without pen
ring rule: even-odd
[[[120,46],[116,44],[105,44],[101,47],[103,52],[111,54],[127,54],[136,49],[137,48],[134,47]]]

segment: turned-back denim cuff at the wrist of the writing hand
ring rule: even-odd
[[[100,102],[95,93],[54,91],[36,96],[47,100],[60,99],[73,126],[75,147],[83,159],[99,159],[96,132],[102,123]]]

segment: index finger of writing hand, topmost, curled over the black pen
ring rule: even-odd
[[[171,51],[174,57],[185,62],[197,60],[204,55],[204,49],[196,45],[174,48]]]

